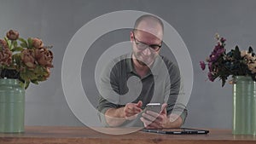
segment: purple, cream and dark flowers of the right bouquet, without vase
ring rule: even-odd
[[[224,86],[227,78],[231,76],[250,76],[256,81],[256,55],[252,47],[248,50],[240,50],[238,46],[226,52],[224,37],[216,35],[217,44],[206,62],[200,61],[201,69],[208,67],[208,78],[214,81],[216,78],[222,80]],[[230,81],[232,82],[232,81]]]

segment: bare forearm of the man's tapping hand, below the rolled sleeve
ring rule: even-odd
[[[105,119],[109,126],[115,127],[125,122],[124,107],[109,108],[105,112]]]

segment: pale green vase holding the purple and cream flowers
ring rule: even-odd
[[[233,135],[256,135],[256,82],[236,76],[233,87]]]

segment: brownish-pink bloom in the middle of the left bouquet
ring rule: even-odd
[[[24,49],[21,51],[21,60],[29,68],[35,68],[34,51],[32,49]]]

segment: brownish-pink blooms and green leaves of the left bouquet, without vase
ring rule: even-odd
[[[23,88],[49,78],[53,67],[53,53],[39,38],[19,37],[19,32],[9,30],[0,39],[0,76],[16,78]]]

